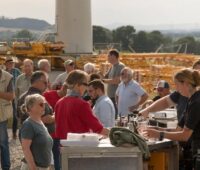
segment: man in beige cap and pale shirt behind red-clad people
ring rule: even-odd
[[[67,78],[67,74],[75,69],[75,63],[73,60],[66,60],[64,62],[65,72],[57,76],[56,80],[52,83],[52,89],[60,89]]]

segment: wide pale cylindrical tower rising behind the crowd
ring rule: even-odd
[[[56,32],[66,53],[92,53],[91,1],[56,0]]]

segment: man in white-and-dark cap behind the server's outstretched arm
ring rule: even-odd
[[[157,86],[155,88],[157,90],[158,95],[155,96],[152,100],[155,102],[156,100],[167,96],[168,94],[170,94],[170,86],[169,83],[165,80],[160,80],[157,83]]]

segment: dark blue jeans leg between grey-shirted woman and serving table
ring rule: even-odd
[[[53,139],[53,159],[54,159],[54,169],[60,170],[60,139]]]

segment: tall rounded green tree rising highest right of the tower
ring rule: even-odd
[[[122,50],[129,50],[129,46],[133,47],[135,28],[127,25],[113,30],[114,42],[121,43]]]

